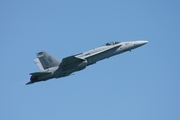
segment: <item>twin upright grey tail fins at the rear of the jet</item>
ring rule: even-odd
[[[49,55],[48,53],[46,53],[45,51],[39,52],[36,54],[38,59],[39,59],[39,63],[37,62],[38,67],[40,68],[40,70],[45,70],[51,67],[55,67],[60,65],[60,61],[54,57],[52,57],[51,55]]]

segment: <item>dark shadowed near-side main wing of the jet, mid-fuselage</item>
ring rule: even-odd
[[[73,55],[73,56],[69,56],[69,57],[63,58],[63,60],[62,60],[62,62],[61,62],[61,64],[59,66],[60,67],[68,66],[70,64],[73,64],[73,63],[76,63],[76,62],[79,62],[79,61],[84,61],[84,59],[75,57]]]

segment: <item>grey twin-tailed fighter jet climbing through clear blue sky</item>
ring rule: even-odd
[[[126,51],[131,51],[132,49],[140,47],[146,43],[148,43],[148,41],[145,40],[109,42],[87,52],[63,58],[62,61],[59,61],[45,51],[38,52],[36,54],[37,58],[34,60],[34,62],[40,68],[41,72],[30,73],[30,82],[26,83],[26,85],[46,81],[52,78],[69,76],[74,72],[83,70],[87,66],[95,64],[100,60],[121,54]]]

